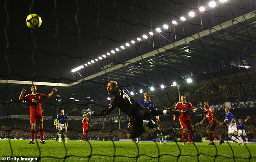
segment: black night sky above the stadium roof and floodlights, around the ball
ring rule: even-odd
[[[31,2],[0,2],[0,79],[70,82],[73,68],[155,27],[178,21],[199,6],[196,0]],[[219,6],[216,12],[221,11]],[[25,25],[30,13],[41,16],[39,29]],[[207,13],[203,18],[207,21]]]

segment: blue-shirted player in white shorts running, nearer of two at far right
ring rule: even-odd
[[[233,114],[229,111],[228,107],[225,107],[225,119],[220,123],[220,125],[227,122],[227,127],[229,127],[229,138],[231,138],[233,141],[236,141],[238,145],[243,144],[243,139],[237,135],[237,124],[235,123],[235,118]]]

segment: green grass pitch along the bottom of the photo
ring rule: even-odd
[[[181,142],[168,142],[160,145],[159,142],[120,141],[68,141],[59,143],[46,140],[46,144],[37,141],[29,145],[29,140],[0,140],[0,157],[17,156],[33,157],[41,162],[256,162],[256,144],[245,146],[232,144],[208,145],[181,145]]]

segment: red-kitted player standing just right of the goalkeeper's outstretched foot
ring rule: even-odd
[[[181,102],[177,103],[175,105],[175,110],[178,110],[181,112],[181,115],[178,117],[182,129],[182,144],[185,145],[185,136],[188,132],[189,137],[189,143],[188,144],[194,144],[192,141],[192,131],[193,131],[193,124],[190,118],[190,111],[195,110],[195,107],[189,102],[186,102],[186,96],[182,95],[180,96]],[[176,121],[176,116],[173,115],[173,120]]]

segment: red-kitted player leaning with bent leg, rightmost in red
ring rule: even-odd
[[[208,102],[204,102],[204,113],[205,113],[205,117],[204,119],[200,122],[200,124],[203,124],[204,121],[207,119],[209,124],[206,127],[206,133],[209,137],[210,140],[210,144],[209,145],[214,145],[212,136],[216,139],[219,140],[219,145],[221,145],[222,143],[224,143],[224,141],[214,132],[214,129],[216,127],[217,124],[217,118],[215,117],[215,113],[214,110],[212,108],[209,107],[209,103]]]

